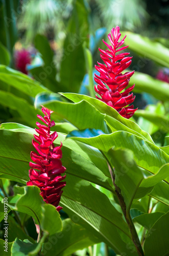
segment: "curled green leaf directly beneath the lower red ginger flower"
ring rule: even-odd
[[[39,195],[40,189],[37,186],[15,186],[14,193],[14,197],[18,194],[20,197],[15,205],[11,204],[11,200],[9,201],[10,208],[32,216],[36,224],[41,225],[45,233],[53,234],[62,230],[62,220],[59,212],[53,205],[44,203],[43,198]],[[20,237],[18,236],[18,238]]]

